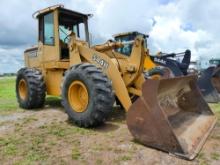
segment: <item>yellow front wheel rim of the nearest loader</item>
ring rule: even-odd
[[[68,89],[68,101],[73,111],[84,112],[88,106],[89,94],[86,86],[80,81],[74,81]]]

